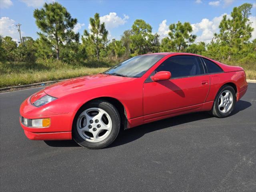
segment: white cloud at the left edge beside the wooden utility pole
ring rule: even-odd
[[[10,36],[13,38],[14,41],[20,41],[20,34],[17,31],[17,27],[15,25],[15,21],[8,17],[1,17],[0,18],[0,34],[1,36]],[[21,31],[21,34],[23,32]]]

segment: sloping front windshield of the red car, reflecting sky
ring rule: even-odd
[[[130,58],[104,72],[125,77],[141,77],[146,71],[158,62],[164,55],[140,55]]]

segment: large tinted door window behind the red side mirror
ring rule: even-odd
[[[204,74],[204,67],[197,56],[172,56],[165,60],[155,72],[169,71],[172,78],[188,77]]]

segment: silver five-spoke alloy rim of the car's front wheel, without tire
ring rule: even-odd
[[[78,117],[76,128],[84,140],[100,142],[109,136],[112,130],[112,120],[103,109],[89,108]]]

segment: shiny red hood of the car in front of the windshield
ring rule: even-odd
[[[134,78],[113,76],[107,74],[89,75],[69,80],[64,80],[56,84],[52,84],[44,89],[44,92],[50,96],[60,98],[68,94],[108,86],[111,84],[118,84],[127,82]]]

